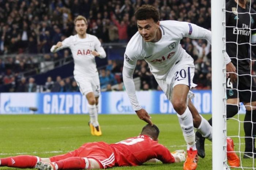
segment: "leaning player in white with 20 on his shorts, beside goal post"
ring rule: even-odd
[[[145,60],[159,86],[177,112],[183,136],[187,142],[188,155],[183,169],[195,170],[198,157],[195,146],[193,117],[199,117],[197,131],[209,140],[212,139],[212,128],[198,114],[190,101],[193,93],[189,90],[196,86],[192,82],[195,66],[192,57],[182,49],[180,40],[183,37],[189,37],[206,39],[211,42],[211,31],[188,22],[159,21],[159,12],[157,8],[151,5],[139,7],[135,12],[135,18],[138,32],[128,42],[124,54],[123,68],[123,81],[132,107],[140,119],[152,124],[151,117],[139,105],[132,80],[137,60]],[[229,57],[226,56],[225,63],[231,65],[234,69],[230,61]]]

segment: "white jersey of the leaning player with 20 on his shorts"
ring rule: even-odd
[[[160,29],[162,37],[158,42],[145,42],[139,32],[133,35],[125,50],[125,67],[133,69],[137,60],[145,60],[155,78],[165,79],[175,63],[182,57],[189,56],[181,47],[180,40],[183,37],[197,37],[198,26],[188,22],[165,20],[160,21]]]

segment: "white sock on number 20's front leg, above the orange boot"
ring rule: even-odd
[[[184,139],[187,142],[187,150],[189,150],[189,148],[193,148],[193,150],[196,150],[193,117],[190,110],[187,107],[182,115],[177,114],[177,116],[180,122]]]

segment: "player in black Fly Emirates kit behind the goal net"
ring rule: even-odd
[[[256,158],[256,84],[251,67],[253,53],[256,54],[256,11],[246,1],[229,0],[226,3],[226,51],[238,73],[235,83],[227,78],[227,118],[238,113],[240,102],[245,105],[244,158]],[[209,123],[212,124],[211,119]],[[196,140],[198,154],[204,157],[204,138],[198,132]]]

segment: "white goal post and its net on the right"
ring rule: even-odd
[[[238,5],[236,1],[241,2],[241,4]],[[253,126],[256,128],[256,124],[253,124],[253,111],[247,111],[246,113],[246,110],[254,109],[255,104],[253,102],[256,101],[256,77],[254,74],[256,58],[253,52],[255,46],[253,34],[256,33],[256,20],[254,19],[256,18],[256,12],[253,8],[256,7],[256,3],[254,0],[236,1],[211,1],[213,170],[256,169],[256,162],[253,158],[255,152]],[[248,6],[241,7],[245,1]],[[226,73],[229,72],[226,72],[223,60],[225,52],[229,54],[232,63],[236,66],[236,83],[231,83],[230,79],[226,78]],[[239,100],[236,100],[236,98]],[[227,116],[230,115],[230,113],[226,113],[226,107],[229,109],[232,105],[240,110],[237,109],[238,114],[226,120]],[[239,167],[230,166],[227,162],[227,137],[234,140],[234,150],[240,158]]]

